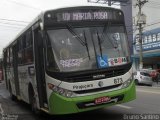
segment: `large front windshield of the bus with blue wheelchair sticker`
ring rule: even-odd
[[[130,62],[124,26],[47,30],[47,70],[106,69]]]

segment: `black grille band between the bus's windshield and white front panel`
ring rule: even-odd
[[[124,75],[132,67],[132,63],[128,63],[121,66],[109,67],[106,69],[97,69],[97,70],[85,70],[85,71],[75,71],[75,72],[52,72],[46,71],[51,77],[65,81],[65,82],[85,82],[85,81],[94,81],[105,78],[111,78],[116,76]],[[97,77],[98,76],[98,77]]]

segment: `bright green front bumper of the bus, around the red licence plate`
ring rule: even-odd
[[[110,97],[110,102],[95,104],[96,98]],[[59,94],[52,93],[49,98],[50,114],[71,114],[94,110],[102,107],[112,106],[115,104],[129,102],[136,98],[134,81],[125,89],[111,92],[99,93],[83,97],[66,98]]]

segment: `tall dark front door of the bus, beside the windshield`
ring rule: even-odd
[[[35,48],[34,54],[35,54],[36,80],[37,80],[37,89],[38,89],[40,107],[48,108],[45,70],[44,70],[43,38],[39,28],[36,28],[34,30],[34,48]]]

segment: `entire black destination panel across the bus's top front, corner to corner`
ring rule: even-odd
[[[45,13],[45,18],[46,23],[79,21],[124,21],[123,13],[114,9],[69,9],[48,11]]]

